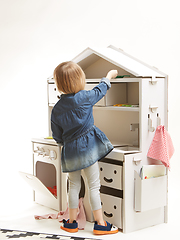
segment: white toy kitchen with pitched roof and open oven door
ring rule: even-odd
[[[114,145],[99,161],[101,201],[104,219],[123,233],[167,222],[168,170],[157,161],[164,174],[143,179],[141,171],[153,165],[147,157],[157,126],[167,128],[167,75],[114,46],[87,48],[72,61],[86,74],[86,90],[97,85],[111,69],[118,78],[111,81],[106,96],[93,108],[95,125]],[[59,99],[52,77],[47,80],[48,121]],[[61,146],[49,138],[32,139],[33,175],[20,173],[33,187],[34,201],[55,209],[67,208],[68,175],[61,172]],[[82,171],[80,197],[88,221],[93,221],[87,182]]]

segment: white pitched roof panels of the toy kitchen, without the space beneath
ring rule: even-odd
[[[127,74],[130,73],[135,77],[165,77],[165,73],[158,69],[151,67],[140,60],[130,56],[123,50],[114,46],[109,46],[102,49],[86,48],[83,52],[73,58],[72,61],[78,63],[83,70],[87,69],[90,65],[95,64],[98,60],[105,60]]]

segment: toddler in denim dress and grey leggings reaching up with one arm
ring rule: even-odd
[[[88,181],[90,203],[95,220],[94,234],[118,232],[117,227],[103,220],[98,160],[112,151],[113,146],[106,135],[94,126],[93,106],[111,87],[110,80],[117,76],[117,70],[111,70],[99,85],[85,91],[85,74],[74,62],[63,62],[54,70],[56,86],[61,92],[60,100],[51,114],[52,136],[63,145],[61,166],[69,174],[69,220],[63,221],[61,228],[68,232],[77,232],[76,222],[79,192],[81,189],[81,170]],[[103,119],[102,119],[103,121]]]

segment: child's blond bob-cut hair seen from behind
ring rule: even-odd
[[[63,62],[55,70],[53,77],[59,92],[77,93],[85,87],[85,74],[74,62]]]

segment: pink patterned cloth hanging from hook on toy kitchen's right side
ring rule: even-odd
[[[170,168],[169,160],[174,153],[174,146],[169,133],[163,125],[156,128],[156,132],[147,156],[160,160],[165,167]]]

